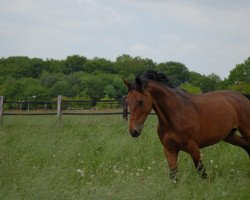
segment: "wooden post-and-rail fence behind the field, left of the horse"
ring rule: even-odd
[[[4,115],[56,115],[59,120],[62,115],[124,115],[124,102],[124,98],[99,101],[63,100],[61,95],[57,101],[5,101],[0,96],[0,125]]]

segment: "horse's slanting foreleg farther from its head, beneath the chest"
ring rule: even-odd
[[[195,143],[189,145],[187,152],[192,156],[192,159],[194,161],[195,167],[196,167],[199,175],[203,179],[206,179],[207,173],[206,173],[206,169],[205,169],[205,167],[202,163],[202,160],[201,160],[201,154],[200,154],[200,149],[199,149],[198,145],[196,145]]]

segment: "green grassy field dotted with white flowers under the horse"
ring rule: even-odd
[[[250,159],[226,143],[202,150],[209,179],[180,154],[168,178],[157,120],[134,139],[121,116],[5,116],[0,199],[250,199]]]

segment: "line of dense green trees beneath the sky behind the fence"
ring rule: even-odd
[[[190,93],[220,89],[250,93],[250,57],[236,64],[229,76],[202,75],[180,62],[156,63],[148,58],[121,55],[115,61],[72,55],[64,60],[12,56],[0,59],[0,95],[7,100],[120,99],[126,94],[122,77],[133,81],[146,70],[161,71]]]

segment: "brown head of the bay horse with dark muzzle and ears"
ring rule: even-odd
[[[144,89],[145,84],[139,77],[134,84],[124,80],[128,88],[126,103],[130,111],[129,132],[132,137],[138,137],[141,134],[143,124],[152,110],[152,98]]]

